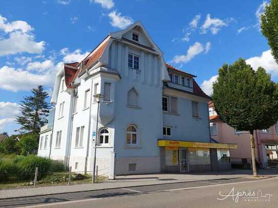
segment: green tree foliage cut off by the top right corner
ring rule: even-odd
[[[278,63],[278,0],[271,0],[261,15],[261,29]]]

